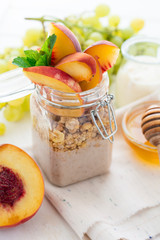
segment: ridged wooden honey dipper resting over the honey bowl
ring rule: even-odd
[[[160,106],[151,105],[142,116],[142,132],[145,138],[158,149],[160,160]]]

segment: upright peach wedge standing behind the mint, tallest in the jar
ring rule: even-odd
[[[81,46],[78,39],[66,26],[58,23],[51,23],[49,27],[49,35],[52,34],[57,36],[57,40],[52,51],[52,66],[69,54],[81,52]]]

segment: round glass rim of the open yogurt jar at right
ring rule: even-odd
[[[141,59],[138,59],[137,56],[131,55],[128,53],[128,49],[137,44],[137,43],[155,43],[159,45],[158,49],[158,57],[156,61],[143,61]],[[137,62],[137,63],[142,63],[142,64],[148,64],[148,65],[157,65],[160,64],[160,38],[153,38],[153,37],[144,37],[144,36],[135,36],[131,37],[128,40],[126,40],[122,46],[121,46],[121,52],[122,55],[131,61]]]

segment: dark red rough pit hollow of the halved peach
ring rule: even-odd
[[[13,207],[24,194],[23,182],[18,174],[0,165],[0,204]]]

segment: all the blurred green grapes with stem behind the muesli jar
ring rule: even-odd
[[[41,47],[47,37],[46,22],[61,22],[65,24],[78,38],[82,50],[86,49],[96,41],[108,40],[116,44],[119,48],[122,43],[137,34],[144,26],[142,19],[134,19],[126,28],[120,27],[120,17],[110,13],[110,7],[106,4],[98,5],[93,12],[82,13],[80,15],[67,16],[64,19],[55,17],[26,18],[28,20],[39,21],[41,29],[29,29],[23,37],[23,46],[20,48],[6,48],[0,54],[0,73],[14,69],[12,64],[14,57],[23,56],[26,49],[37,49]],[[110,83],[122,64],[121,53],[114,67],[108,70]],[[19,121],[29,111],[30,96],[26,96],[8,103],[0,103],[0,110],[7,121]],[[0,135],[6,131],[4,123],[0,123]]]

